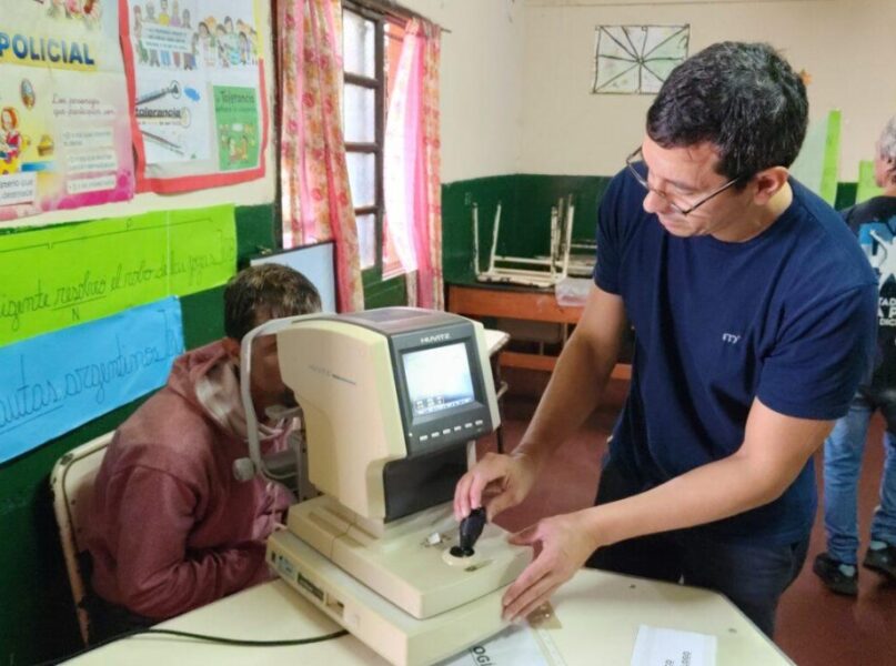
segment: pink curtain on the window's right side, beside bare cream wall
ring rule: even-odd
[[[389,103],[384,193],[389,233],[409,273],[409,304],[444,309],[439,141],[440,29],[409,21]]]

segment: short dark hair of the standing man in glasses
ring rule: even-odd
[[[719,42],[672,70],[647,111],[647,135],[663,148],[714,144],[716,170],[743,186],[793,163],[807,118],[806,87],[775,49]]]

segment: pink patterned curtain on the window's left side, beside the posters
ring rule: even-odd
[[[340,312],[364,309],[342,137],[340,0],[276,0],[283,245],[334,240]]]

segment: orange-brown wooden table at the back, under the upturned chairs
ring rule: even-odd
[[[472,317],[492,316],[576,324],[582,316],[583,307],[561,305],[552,290],[493,284],[450,284],[447,310]],[[551,372],[556,362],[557,357],[548,354],[528,354],[506,350],[501,353],[501,364],[505,367]],[[628,380],[632,376],[632,367],[618,363],[613,369],[611,376],[614,380]]]

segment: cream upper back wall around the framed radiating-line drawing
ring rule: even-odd
[[[896,113],[893,0],[527,0],[517,172],[611,175],[641,142],[653,95],[591,93],[595,27],[630,23],[689,23],[691,53],[722,40],[783,51],[812,75],[811,120],[843,111],[840,180]]]

